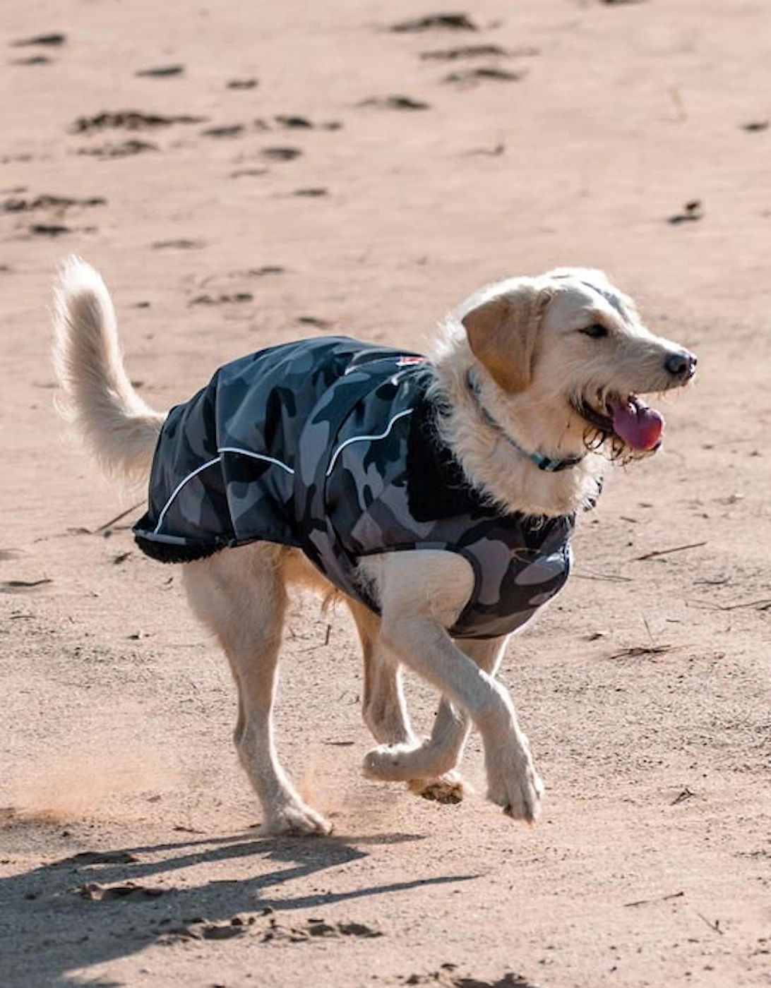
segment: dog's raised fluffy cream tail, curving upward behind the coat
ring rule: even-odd
[[[139,397],[124,368],[115,309],[99,274],[80,258],[55,288],[53,367],[62,414],[113,477],[146,480],[166,418]]]

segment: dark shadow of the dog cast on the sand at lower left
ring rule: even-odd
[[[0,983],[73,986],[72,973],[132,953],[163,939],[223,939],[234,934],[301,938],[303,928],[284,922],[285,911],[447,882],[474,874],[413,877],[406,881],[357,883],[347,891],[304,890],[293,883],[316,872],[367,858],[362,846],[422,840],[414,834],[357,837],[260,839],[232,837],[185,840],[170,844],[81,853],[0,880]],[[212,878],[227,874],[228,863],[254,860],[252,877]],[[265,868],[266,863],[276,864]],[[197,868],[206,866],[206,875]],[[236,869],[233,868],[233,871]],[[243,863],[238,873],[242,873]],[[175,884],[174,873],[180,879]],[[184,872],[184,873],[183,873]],[[155,880],[153,880],[155,879]],[[303,884],[303,889],[307,886]],[[305,929],[313,930],[305,921]],[[231,926],[231,924],[233,924]],[[252,926],[253,924],[253,926]],[[334,930],[334,928],[330,928]],[[349,923],[343,932],[373,936],[364,925]],[[111,981],[89,983],[110,988]]]

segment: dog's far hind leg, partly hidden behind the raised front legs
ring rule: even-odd
[[[364,722],[381,744],[414,746],[416,740],[404,705],[399,661],[383,647],[381,619],[356,601],[348,599],[348,606],[362,643]]]

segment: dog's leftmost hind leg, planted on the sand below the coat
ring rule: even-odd
[[[238,757],[262,804],[262,832],[321,833],[330,823],[306,805],[284,773],[273,737],[276,669],[287,605],[284,550],[224,549],[183,570],[193,611],[212,628],[238,688]]]

